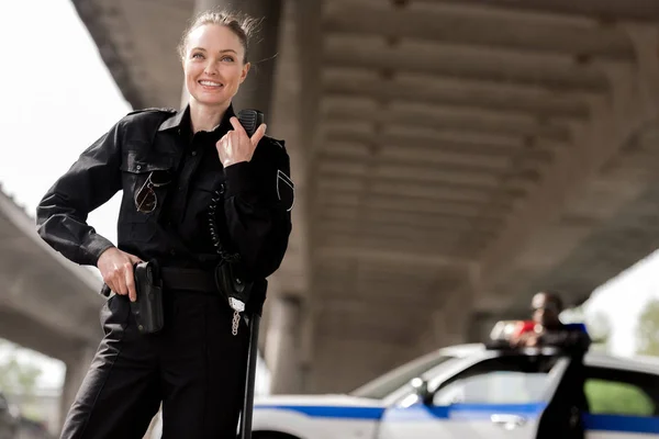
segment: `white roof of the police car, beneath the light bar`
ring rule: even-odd
[[[487,351],[482,344],[466,344],[437,349],[434,356],[450,356],[467,358]],[[599,368],[623,369],[634,372],[659,374],[659,358],[647,356],[621,357],[601,350],[591,349],[584,358],[584,363]]]

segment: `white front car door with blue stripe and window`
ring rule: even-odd
[[[569,363],[552,356],[501,354],[442,382],[424,402],[384,412],[379,439],[532,439]]]

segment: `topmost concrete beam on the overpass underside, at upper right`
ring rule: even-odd
[[[602,26],[594,20],[512,9],[418,1],[394,7],[390,2],[343,0],[327,3],[323,24],[328,33],[634,58],[629,41],[614,26]]]

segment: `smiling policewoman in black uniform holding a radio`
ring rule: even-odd
[[[249,137],[231,104],[249,71],[255,23],[199,15],[179,47],[188,105],[123,117],[37,207],[42,238],[71,261],[98,267],[113,292],[63,438],[142,438],[160,403],[165,438],[235,437],[248,328],[245,318],[235,325],[236,312],[216,291],[209,206],[222,245],[239,256],[254,285],[246,311],[260,313],[265,279],[287,249],[293,203],[283,142],[265,136],[264,124]],[[115,247],[86,221],[120,190]],[[164,327],[156,334],[141,333],[132,313],[141,261],[157,262],[163,273]]]

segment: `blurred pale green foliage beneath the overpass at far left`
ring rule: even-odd
[[[19,360],[19,348],[0,340],[0,390],[8,394],[34,395],[42,370]]]

